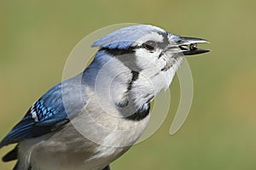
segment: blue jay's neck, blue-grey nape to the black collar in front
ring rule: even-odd
[[[100,50],[84,71],[83,80],[104,111],[115,109],[128,120],[140,121],[149,114],[154,92],[150,82],[145,82],[137,69],[126,64]]]

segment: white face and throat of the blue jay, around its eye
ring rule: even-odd
[[[173,49],[170,48],[173,42],[169,39],[167,34],[152,32],[133,44],[137,47],[134,50],[137,66],[142,69],[137,82],[134,82],[134,86],[137,87],[134,88],[137,89],[134,93],[142,91],[151,94],[148,96],[152,98],[160,90],[169,88],[183,59],[183,55],[173,53]]]

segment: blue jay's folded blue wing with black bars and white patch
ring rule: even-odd
[[[1,141],[0,148],[59,129],[85,105],[81,74],[49,89]]]

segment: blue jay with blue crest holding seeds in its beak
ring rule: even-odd
[[[15,144],[3,161],[14,170],[109,170],[135,144],[150,102],[169,88],[186,55],[207,40],[157,26],[127,26],[93,42],[84,71],[50,88],[2,139]]]

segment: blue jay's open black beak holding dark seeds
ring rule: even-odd
[[[209,43],[201,38],[179,37],[176,43],[184,55],[203,54],[211,51],[209,49],[197,48],[197,43]]]

